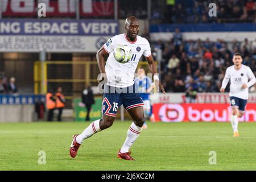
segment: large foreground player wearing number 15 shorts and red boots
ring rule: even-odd
[[[139,137],[142,131],[142,125],[145,121],[143,111],[143,101],[139,93],[135,93],[134,73],[139,59],[144,55],[148,62],[148,68],[154,75],[156,89],[164,92],[163,85],[160,83],[156,64],[151,55],[150,44],[147,39],[138,36],[139,23],[135,16],[130,16],[125,20],[125,34],[119,34],[109,39],[97,52],[96,59],[100,68],[101,76],[98,82],[104,85],[104,96],[102,101],[102,118],[92,122],[80,135],[74,135],[69,149],[72,158],[77,155],[81,143],[96,134],[99,131],[107,129],[113,125],[117,109],[123,105],[133,119],[133,123],[127,131],[127,137],[123,146],[118,151],[118,158],[125,160],[134,160],[130,154],[130,147]],[[119,63],[114,59],[113,51],[119,45],[130,46],[133,55],[127,63]],[[104,56],[109,55],[106,61]],[[109,93],[110,90],[110,93]],[[114,90],[114,92],[112,92]],[[118,90],[118,92],[117,92]],[[132,92],[130,92],[130,90]],[[121,91],[121,93],[119,92]],[[104,154],[104,153],[102,153]]]

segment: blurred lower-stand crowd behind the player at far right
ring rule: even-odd
[[[233,65],[232,55],[236,52],[242,54],[243,64],[256,75],[256,39],[253,42],[247,39],[211,42],[209,38],[184,41],[179,32],[176,34],[179,35],[174,34],[170,42],[151,43],[163,52],[160,75],[166,92],[219,92],[225,70]],[[250,89],[254,90],[255,87]]]

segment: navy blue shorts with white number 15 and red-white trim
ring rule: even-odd
[[[117,109],[121,105],[126,110],[144,105],[139,92],[136,92],[135,85],[125,88],[115,88],[105,85],[101,113],[115,117],[117,115]]]

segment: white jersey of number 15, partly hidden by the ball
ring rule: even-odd
[[[113,52],[118,45],[131,47],[133,55],[127,63],[118,63],[115,60]],[[108,77],[107,85],[123,88],[134,84],[134,73],[141,59],[142,54],[145,57],[151,55],[150,44],[147,39],[137,35],[136,42],[129,42],[126,34],[115,35],[103,45],[106,52],[109,53],[106,61],[105,71]]]

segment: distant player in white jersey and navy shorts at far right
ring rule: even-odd
[[[249,87],[256,82],[255,75],[249,67],[242,64],[242,61],[240,53],[233,55],[234,65],[226,69],[220,89],[220,92],[225,92],[226,85],[230,80],[229,97],[230,106],[232,107],[231,124],[234,132],[233,137],[239,137],[238,118],[241,118],[245,113]]]

